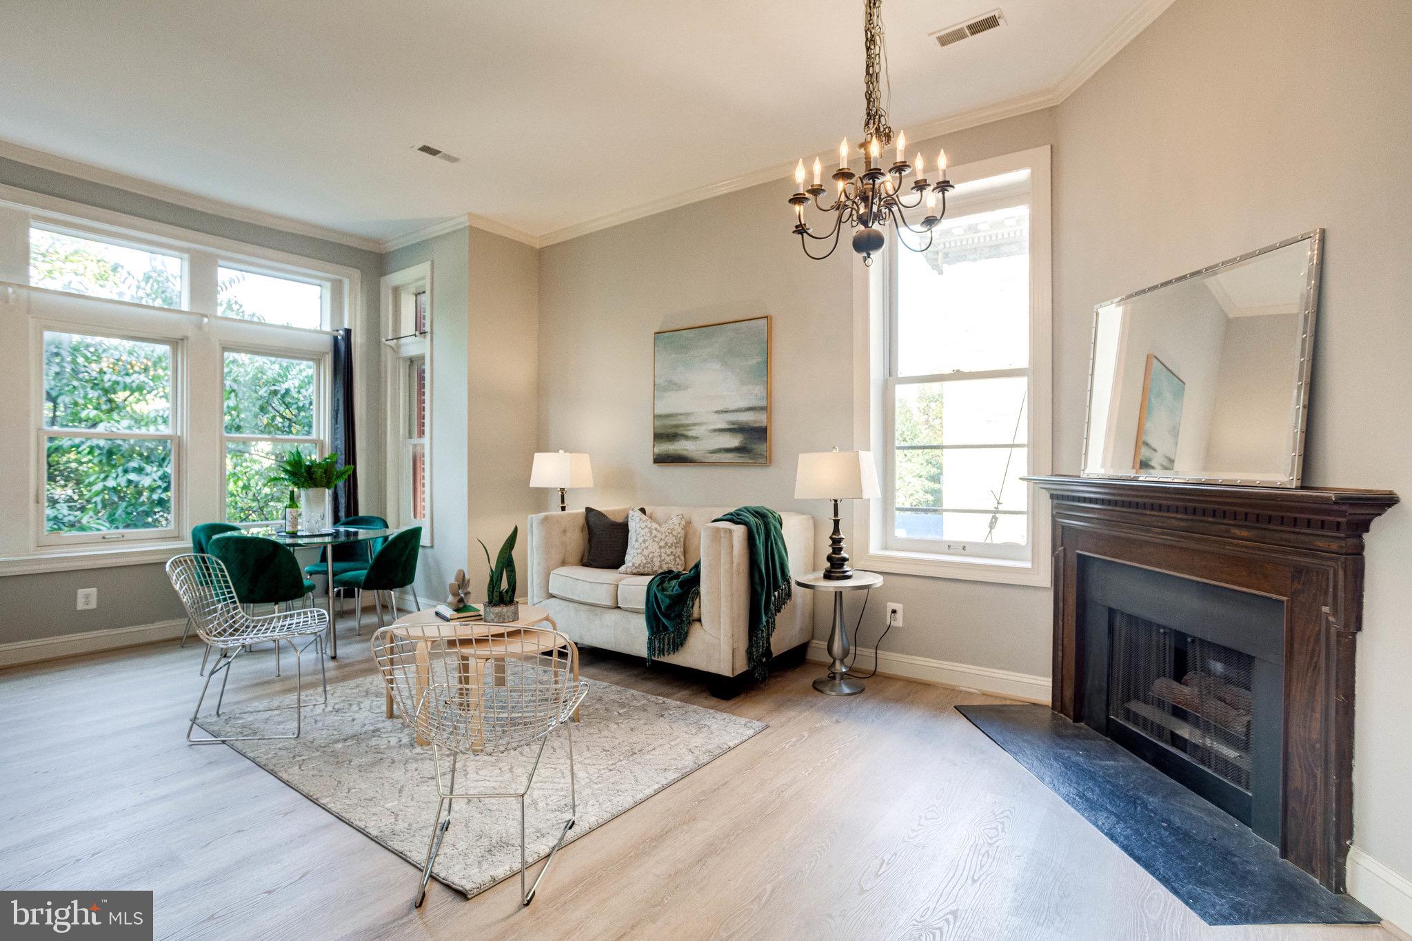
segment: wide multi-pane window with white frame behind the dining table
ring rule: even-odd
[[[30,358],[0,374],[0,518],[28,521],[0,528],[0,574],[278,521],[278,461],[329,453],[356,269],[0,188],[0,344]]]

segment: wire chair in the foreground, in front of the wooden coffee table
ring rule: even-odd
[[[473,797],[518,799],[520,900],[530,904],[578,814],[572,717],[583,701],[587,683],[573,676],[578,666],[573,642],[546,628],[438,621],[380,628],[371,646],[388,696],[418,741],[431,743],[436,769],[439,800],[414,907],[426,900],[432,865],[450,827],[452,801]],[[568,732],[569,743],[569,818],[534,885],[525,890],[525,794],[534,784],[549,734],[559,727]],[[534,749],[521,790],[456,791],[456,765],[462,756],[489,758],[517,749]],[[442,751],[450,752],[449,782],[442,777]]]

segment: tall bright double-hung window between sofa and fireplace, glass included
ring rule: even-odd
[[[875,275],[882,499],[860,564],[1041,581],[1042,497],[1021,478],[1049,460],[1048,152],[953,179],[931,247],[890,244]]]

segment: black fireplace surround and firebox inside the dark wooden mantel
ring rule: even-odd
[[[1279,845],[1284,604],[1080,566],[1084,724]]]

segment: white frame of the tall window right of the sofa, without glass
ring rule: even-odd
[[[1049,559],[1049,502],[1035,484],[1027,484],[1028,539],[1024,547],[1008,550],[987,546],[987,554],[977,554],[973,543],[956,540],[956,550],[938,550],[928,542],[898,540],[892,536],[892,420],[895,391],[899,384],[946,381],[952,378],[983,378],[998,375],[1028,375],[1027,429],[1028,473],[1049,473],[1052,460],[1052,370],[1051,337],[1052,303],[1052,237],[1049,147],[1038,147],[1017,154],[963,164],[950,169],[952,182],[960,185],[1018,171],[1029,171],[1029,365],[1022,370],[942,374],[932,377],[892,375],[895,262],[884,257],[867,268],[854,267],[853,291],[853,348],[854,348],[854,440],[857,447],[871,450],[882,481],[882,498],[853,501],[854,566],[874,571],[997,581],[1005,584],[1048,585]],[[947,214],[970,214],[1021,200],[1001,193],[997,199],[984,196],[947,206]],[[890,247],[895,251],[888,234]]]

